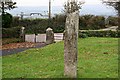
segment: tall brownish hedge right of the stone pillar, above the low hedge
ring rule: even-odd
[[[103,16],[83,15],[80,16],[79,29],[96,30],[105,28],[105,18]]]

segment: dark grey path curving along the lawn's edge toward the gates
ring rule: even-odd
[[[38,43],[36,44],[35,47],[32,48],[41,48],[46,46],[45,43]],[[6,55],[11,55],[11,54],[17,54],[19,52],[25,51],[27,49],[31,49],[31,48],[17,48],[17,49],[6,49],[6,50],[0,50],[0,56],[6,56]]]

